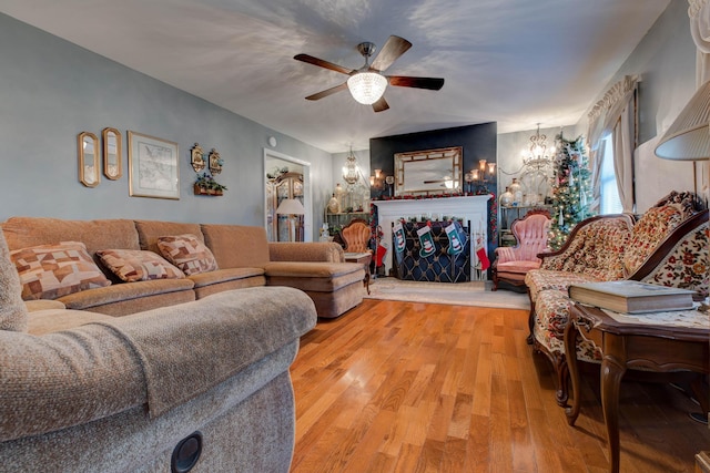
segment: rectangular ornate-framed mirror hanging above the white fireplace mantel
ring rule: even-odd
[[[462,146],[396,153],[395,195],[460,193],[463,162]],[[445,186],[448,181],[452,182],[452,187]]]

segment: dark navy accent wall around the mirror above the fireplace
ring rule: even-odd
[[[462,146],[464,148],[463,173],[478,167],[478,160],[496,162],[496,142],[498,124],[496,122],[478,125],[456,126],[369,140],[369,168],[382,169],[386,176],[394,175],[395,153],[435,150],[438,147]],[[496,185],[490,185],[495,193]],[[372,191],[373,198],[379,196]]]

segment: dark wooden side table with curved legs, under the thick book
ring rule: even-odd
[[[565,329],[565,353],[575,393],[572,405],[566,412],[570,425],[579,415],[580,404],[575,349],[577,337],[592,340],[602,352],[601,410],[609,441],[609,471],[612,473],[619,471],[619,385],[626,370],[710,372],[709,316],[693,310],[676,311],[671,317],[673,320],[663,322],[651,321],[653,316],[646,320],[645,316],[611,317],[596,307],[575,304]],[[707,413],[707,395],[700,395],[698,400]]]

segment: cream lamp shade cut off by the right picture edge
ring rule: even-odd
[[[710,158],[710,81],[698,89],[666,131],[656,155],[677,161]]]

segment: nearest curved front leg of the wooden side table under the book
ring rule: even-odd
[[[619,385],[626,372],[626,352],[622,337],[605,333],[601,361],[601,410],[609,441],[609,471],[619,472]]]

